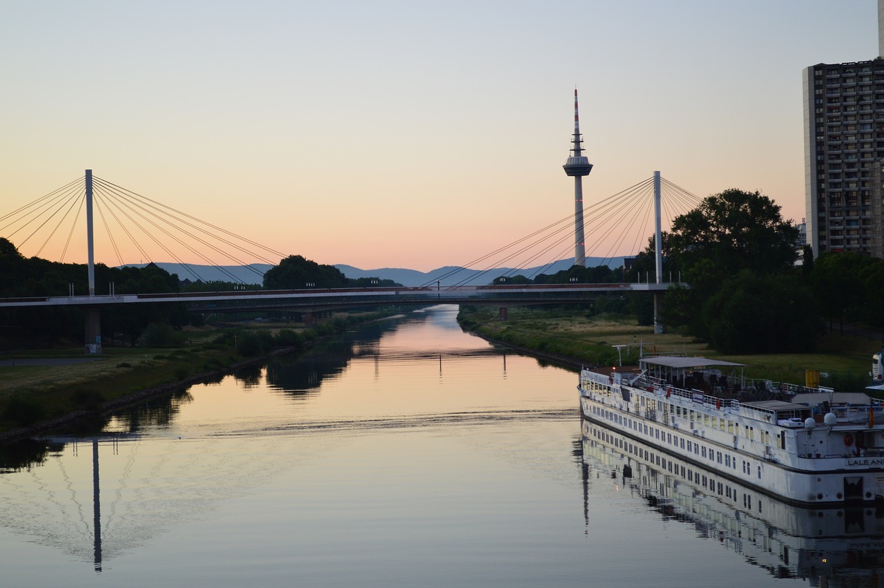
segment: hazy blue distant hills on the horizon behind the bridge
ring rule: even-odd
[[[614,257],[607,260],[602,257],[587,257],[586,265],[588,267],[596,267],[598,265],[608,265],[611,268],[620,267],[623,264],[622,257]],[[144,263],[132,263],[134,267],[144,267]],[[271,267],[270,263],[251,263],[250,265],[224,265],[217,268],[213,265],[197,265],[188,263],[156,263],[169,273],[177,273],[179,279],[189,279],[194,282],[202,279],[203,282],[220,280],[225,282],[234,281],[231,276],[235,276],[237,280],[245,284],[262,284],[263,273]],[[534,278],[540,273],[552,274],[557,271],[568,270],[574,265],[574,257],[569,259],[560,259],[552,266],[535,266],[518,271],[512,268],[495,268],[488,271],[465,270],[456,265],[446,265],[431,271],[408,270],[405,268],[377,268],[375,270],[362,270],[352,265],[344,263],[336,263],[335,267],[343,272],[347,278],[379,278],[392,279],[394,282],[400,283],[402,286],[424,286],[432,285],[439,279],[443,286],[462,285],[462,286],[484,286],[490,284],[495,278],[509,274],[522,274],[526,278]]]

